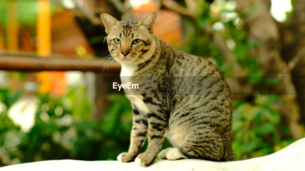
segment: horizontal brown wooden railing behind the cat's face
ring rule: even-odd
[[[40,58],[35,53],[12,53],[0,51],[0,70],[9,71],[93,71],[103,73],[120,72],[120,64],[102,58],[81,59],[62,55]]]

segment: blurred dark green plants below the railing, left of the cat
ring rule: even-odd
[[[120,152],[127,151],[132,115],[125,96],[109,95],[112,105],[104,119],[96,122],[84,82],[69,84],[65,92],[35,93],[40,100],[35,125],[24,132],[7,116],[8,109],[24,92],[0,89],[0,153],[20,163],[48,159],[114,160]]]

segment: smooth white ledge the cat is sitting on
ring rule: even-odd
[[[0,171],[300,171],[304,170],[305,138],[263,157],[234,162],[211,162],[199,159],[156,160],[144,168],[135,162],[49,160],[0,167]]]

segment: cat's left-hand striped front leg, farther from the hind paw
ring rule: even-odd
[[[148,121],[146,115],[133,109],[133,124],[130,137],[130,145],[128,152],[121,153],[117,156],[120,162],[133,162],[139,152],[142,150],[144,140],[146,138]]]

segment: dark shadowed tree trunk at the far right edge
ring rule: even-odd
[[[301,55],[295,62],[291,75],[298,94],[301,120],[305,123],[305,3],[303,0],[294,1],[292,16],[280,25],[280,31],[283,35],[283,59],[288,63],[298,54]]]

